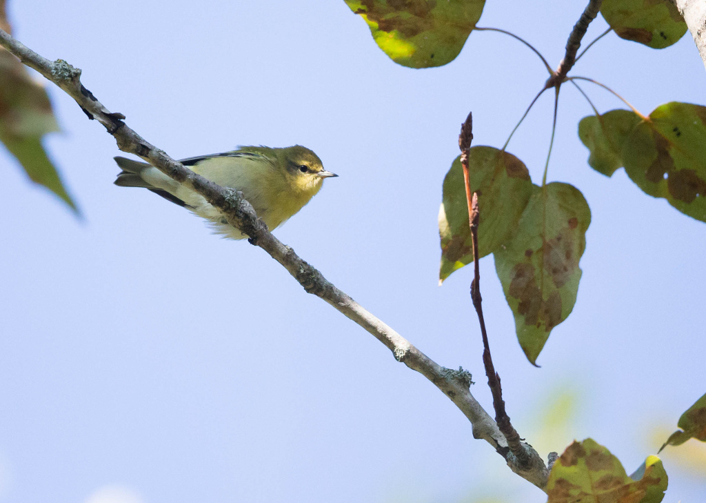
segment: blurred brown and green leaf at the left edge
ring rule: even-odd
[[[9,30],[4,0],[0,0],[0,27]],[[42,136],[58,130],[47,92],[32,80],[19,59],[0,47],[0,141],[33,182],[47,187],[76,211],[42,147]]]

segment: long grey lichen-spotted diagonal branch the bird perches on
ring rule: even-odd
[[[498,430],[496,422],[470,393],[471,381],[468,372],[462,369],[451,370],[438,365],[345,292],[336,288],[316,268],[299,258],[291,247],[285,246],[274,237],[240,192],[210,182],[145,141],[123,122],[125,119],[123,114],[109,112],[88,89],[83,87],[80,83],[79,69],[73,68],[61,59],[52,62],[41,57],[2,30],[0,30],[0,45],[73,97],[89,119],[100,122],[115,138],[120,150],[138,155],[175,181],[201,194],[222,212],[230,225],[244,232],[251,238],[253,244],[264,249],[273,259],[282,264],[306,292],[321,297],[383,343],[392,351],[397,361],[403,362],[410,369],[416,370],[429,379],[471,422],[474,438],[484,439],[491,444],[493,449],[505,458],[513,472],[544,489],[549,475],[544,461],[537,451],[524,444],[532,452],[534,463],[528,468],[517,462],[515,456],[510,453],[505,437]]]

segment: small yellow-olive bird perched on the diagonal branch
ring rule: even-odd
[[[247,237],[229,225],[222,213],[203,196],[174,182],[156,167],[122,157],[115,162],[122,172],[115,184],[144,187],[172,203],[209,220],[216,234],[231,239]],[[270,230],[301,210],[321,189],[324,178],[338,175],[323,169],[309,148],[239,147],[231,152],[182,159],[179,162],[222,187],[241,191]]]

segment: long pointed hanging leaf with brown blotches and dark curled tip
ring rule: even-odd
[[[575,187],[558,182],[544,189],[534,186],[517,232],[495,252],[517,339],[532,364],[551,329],[566,319],[576,302],[578,263],[590,223],[591,211]]]

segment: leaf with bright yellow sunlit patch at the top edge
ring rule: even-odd
[[[453,61],[481,17],[485,0],[345,0],[395,63],[411,68]]]

